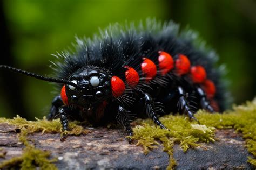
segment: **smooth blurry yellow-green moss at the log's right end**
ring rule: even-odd
[[[225,114],[207,114],[199,111],[197,118],[207,126],[233,128],[241,132],[248,152],[254,156],[248,159],[248,162],[256,166],[256,99],[234,107],[234,111],[227,111]]]

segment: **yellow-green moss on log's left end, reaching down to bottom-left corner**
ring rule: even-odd
[[[57,161],[56,159],[49,160],[50,157],[49,151],[42,151],[28,142],[26,139],[27,134],[42,132],[43,133],[61,133],[62,125],[60,124],[59,119],[53,121],[47,121],[44,117],[43,119],[36,118],[36,121],[27,121],[24,118],[21,118],[17,115],[13,119],[0,118],[0,123],[8,123],[10,125],[17,126],[18,129],[21,129],[19,134],[19,141],[21,141],[25,148],[23,154],[19,157],[14,157],[9,160],[6,160],[0,164],[1,168],[9,168],[19,166],[21,169],[36,169],[40,167],[41,169],[57,169],[53,162]],[[69,128],[70,131],[65,131],[69,135],[80,135],[89,133],[88,130],[85,130],[80,122],[70,122]],[[1,157],[1,154],[0,154]]]

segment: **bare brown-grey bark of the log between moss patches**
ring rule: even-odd
[[[59,140],[59,134],[36,133],[28,139],[36,148],[50,150],[52,157],[58,158],[59,169],[162,169],[169,164],[169,156],[161,146],[144,155],[136,141],[128,143],[122,130],[93,128],[90,131],[86,135],[69,136],[64,142]],[[22,154],[24,145],[18,141],[18,132],[15,126],[0,124],[0,152],[6,152],[0,162]],[[234,130],[217,130],[216,138],[215,143],[202,144],[186,153],[174,145],[176,168],[253,168],[246,162],[250,154],[239,134]]]

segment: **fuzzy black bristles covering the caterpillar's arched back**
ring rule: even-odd
[[[197,34],[191,30],[179,33],[179,26],[173,22],[161,24],[156,20],[147,20],[145,25],[140,23],[138,29],[133,24],[125,27],[115,24],[102,31],[100,36],[93,40],[77,38],[78,51],[75,54],[62,53],[60,58],[64,62],[57,62],[56,72],[59,79],[69,80],[76,70],[95,66],[125,81],[124,66],[136,69],[140,77],[143,77],[140,71],[142,57],[157,63],[158,51],[170,53],[174,59],[177,54],[182,53],[188,56],[191,65],[201,65],[206,69],[207,78],[217,87],[214,98],[218,101],[220,109],[224,110],[225,86],[220,80],[222,73],[215,68],[218,56],[208,49],[195,47],[197,40]],[[200,44],[197,46],[200,47]],[[159,74],[151,82],[159,83],[161,86],[167,84],[165,77]],[[189,83],[184,85],[189,86]]]

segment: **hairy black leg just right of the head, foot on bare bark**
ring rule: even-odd
[[[130,137],[133,136],[129,119],[129,111],[126,111],[122,106],[118,107],[117,123],[123,126]],[[131,144],[131,141],[131,138],[129,138],[129,144]]]

